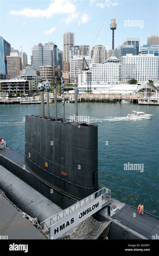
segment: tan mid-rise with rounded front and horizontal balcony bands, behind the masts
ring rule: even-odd
[[[53,77],[53,67],[51,65],[39,66],[39,73],[42,78],[42,82],[46,82],[46,80],[48,80],[50,83],[52,83],[54,77]]]

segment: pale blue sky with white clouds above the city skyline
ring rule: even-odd
[[[30,64],[34,44],[53,41],[63,50],[67,31],[74,32],[75,45],[88,44],[91,50],[99,42],[112,49],[113,17],[115,47],[126,37],[140,38],[141,46],[149,35],[159,34],[158,0],[0,0],[0,35],[14,49],[26,52]]]

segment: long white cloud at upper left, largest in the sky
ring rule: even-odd
[[[51,18],[54,14],[71,14],[75,12],[74,0],[54,0],[48,8],[30,9],[24,8],[23,10],[11,10],[9,14],[17,16],[25,16],[29,18]]]

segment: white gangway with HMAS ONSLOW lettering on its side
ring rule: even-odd
[[[102,188],[58,214],[42,221],[40,223],[41,227],[44,231],[49,229],[50,237],[56,239],[109,204],[110,199],[111,190]]]

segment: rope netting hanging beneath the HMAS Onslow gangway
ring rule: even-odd
[[[112,221],[99,222],[90,216],[57,239],[97,239],[99,236],[105,238]]]

